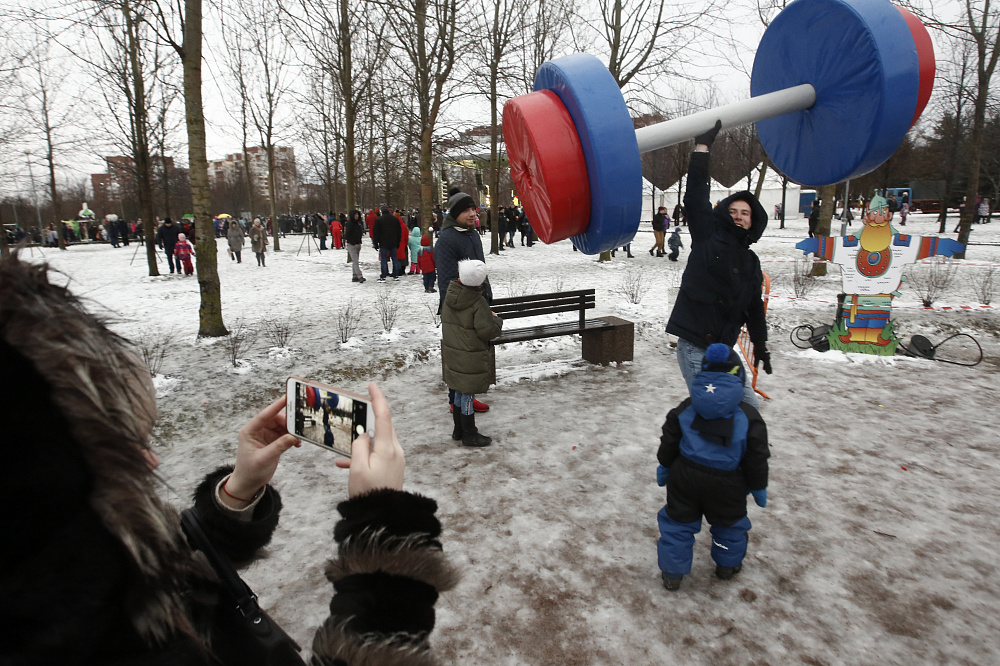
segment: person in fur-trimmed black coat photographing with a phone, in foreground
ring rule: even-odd
[[[16,253],[0,260],[0,378],[0,501],[9,509],[0,663],[244,664],[224,651],[234,611],[221,606],[215,571],[156,492],[149,371],[49,281],[46,265]],[[369,393],[375,441],[362,435],[351,460],[337,461],[350,466],[349,499],[337,506],[326,569],[334,593],[312,663],[432,664],[434,604],[457,573],[442,554],[436,503],[402,490],[388,405],[374,383]],[[278,525],[281,497],[270,480],[298,446],[284,403],[251,419],[235,465],[209,473],[194,493],[205,532],[234,563],[251,560]]]

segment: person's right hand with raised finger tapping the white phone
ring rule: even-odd
[[[349,497],[370,490],[403,489],[403,471],[406,466],[403,447],[399,445],[396,429],[392,426],[389,403],[375,382],[368,385],[372,411],[375,414],[375,442],[367,435],[354,440],[354,455],[348,460],[337,460],[337,467],[350,467],[347,481]]]

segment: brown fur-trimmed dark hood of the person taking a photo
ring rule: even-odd
[[[143,455],[156,418],[146,365],[125,339],[49,276],[47,265],[23,262],[16,254],[0,261],[0,376],[9,396],[0,402],[4,422],[15,423],[4,437],[4,456],[11,463],[5,465],[0,493],[37,523],[36,534],[8,542],[17,561],[5,556],[4,564],[13,568],[4,567],[0,589],[17,587],[19,567],[30,568],[33,558],[44,555],[65,564],[57,574],[21,583],[34,597],[44,601],[46,585],[58,598],[77,584],[94,588],[90,594],[99,597],[106,574],[105,601],[122,600],[120,611],[147,644],[163,644],[178,634],[196,639],[182,585],[192,575],[210,574],[193,558],[177,512],[157,496],[156,477]],[[106,534],[84,528],[95,522]],[[56,543],[53,535],[70,528],[79,539]],[[108,544],[112,561],[104,571],[83,564],[86,554],[79,551],[90,540]],[[4,598],[11,604],[38,603]],[[99,601],[90,600],[91,616],[101,614]],[[67,617],[69,610],[51,612],[51,626],[39,632],[71,642],[74,630],[86,634],[100,623],[85,608]]]

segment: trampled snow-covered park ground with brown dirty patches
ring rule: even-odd
[[[175,334],[157,379],[154,438],[163,492],[179,507],[202,475],[230,462],[236,430],[289,375],[362,393],[370,379],[380,383],[407,453],[407,488],[437,499],[446,551],[464,571],[438,604],[432,643],[445,663],[1000,662],[996,311],[924,310],[905,285],[895,301],[904,340],[974,335],[986,355],[974,368],[799,350],[792,328],[832,322],[839,269],[811,300],[790,299],[806,222],[771,227],[756,248],[774,279],[774,374],[759,383],[771,397],[762,407],[768,506],[750,502],[754,527],[739,576],[714,578],[706,529],[675,593],[661,587],[656,566],[664,492],[655,453],[666,412],[686,394],[663,328],[687,251],[675,265],[650,257],[648,226],[634,259],[619,253],[598,264],[568,242],[487,258],[496,295],[594,287],[595,314],[632,320],[636,334],[635,361],[621,366],[581,361],[573,338],[501,347],[499,384],[485,396],[492,409],[478,417],[494,437],[485,450],[450,438],[437,294],[425,294],[417,276],[376,284],[370,247],[362,251],[368,282],[359,285],[344,251],[297,255],[298,238],[289,238],[258,268],[249,252],[231,262],[220,242],[227,324],[270,317],[293,326],[287,347],[269,348],[262,337],[239,369],[224,340],[196,338],[194,277],[149,278],[142,250],[129,263],[134,247],[46,250],[45,259],[117,331]],[[932,234],[936,224],[911,216],[905,231]],[[977,304],[971,276],[1000,261],[1000,223],[974,227],[972,240],[992,245],[969,248],[936,305]],[[638,305],[618,293],[629,271],[650,287]],[[382,289],[400,305],[391,333],[374,308]],[[351,299],[366,314],[341,344],[337,316]],[[347,474],[332,454],[305,445],[285,456],[275,485],[281,525],[245,577],[308,651],[332,592],[322,570]]]

